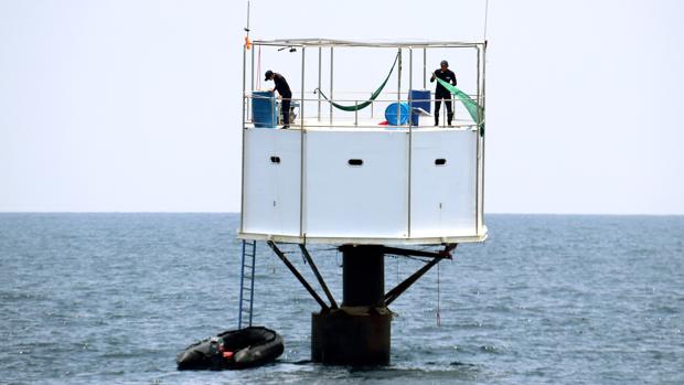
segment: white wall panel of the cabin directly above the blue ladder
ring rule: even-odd
[[[244,233],[299,235],[300,143],[298,130],[246,131]]]

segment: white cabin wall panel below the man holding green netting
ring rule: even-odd
[[[475,235],[477,135],[414,132],[412,237]]]

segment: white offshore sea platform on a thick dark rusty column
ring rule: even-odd
[[[295,106],[287,122],[278,121],[278,99],[255,86],[263,76],[261,51],[268,50],[274,55],[285,51],[290,60],[301,56],[300,68],[287,74]],[[377,89],[363,89],[364,96],[338,92],[335,64],[350,63],[335,63],[335,50],[373,51],[386,57],[389,72],[373,85],[380,85]],[[426,89],[427,57],[451,51],[470,55],[477,79],[470,94],[449,85],[457,119],[447,125],[442,114],[442,124],[435,126],[426,117],[438,113],[430,111],[435,99]],[[485,51],[485,41],[246,39],[238,329],[252,325],[256,243],[265,242],[320,306],[311,316],[313,362],[389,363],[389,304],[426,271],[451,258],[458,244],[487,238]],[[317,60],[318,68],[307,67]],[[420,75],[421,82],[414,83]],[[284,244],[298,245],[322,293],[290,263]],[[342,253],[341,303],[309,253],[313,244],[334,245]],[[387,255],[425,258],[426,264],[387,290]]]

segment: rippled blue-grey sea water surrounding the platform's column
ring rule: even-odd
[[[285,354],[178,372],[182,347],[236,327],[238,215],[0,214],[0,383],[684,384],[684,217],[487,223],[392,304],[388,367],[308,363],[317,304],[260,245],[255,323]],[[341,255],[312,255],[341,299]],[[386,289],[419,266],[388,257]]]

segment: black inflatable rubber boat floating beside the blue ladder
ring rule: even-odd
[[[284,350],[278,333],[264,327],[249,327],[195,342],[175,362],[179,371],[244,368],[275,361]]]

